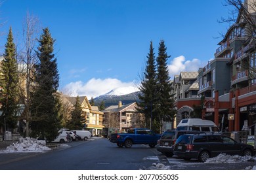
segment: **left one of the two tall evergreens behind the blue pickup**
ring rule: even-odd
[[[138,103],[138,112],[144,114],[146,118],[146,127],[152,127],[152,122],[156,118],[154,110],[156,106],[156,63],[152,41],[150,42],[150,51],[147,56],[146,69],[142,78],[140,90],[140,103]],[[154,128],[153,128],[154,130]]]

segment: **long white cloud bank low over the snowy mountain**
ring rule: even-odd
[[[71,82],[64,87],[64,91],[68,91],[68,94],[72,96],[87,96],[88,99],[91,99],[91,97],[98,97],[116,88],[127,88],[127,90],[132,88],[131,92],[133,92],[137,87],[135,82],[121,82],[116,78],[91,78],[86,83],[81,81]]]

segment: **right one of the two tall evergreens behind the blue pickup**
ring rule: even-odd
[[[167,59],[170,56],[167,55],[167,48],[165,47],[165,42],[160,41],[158,48],[158,58],[157,61],[157,97],[158,105],[157,111],[160,119],[160,124],[156,124],[160,127],[161,132],[161,122],[162,120],[170,121],[175,115],[174,110],[174,99],[171,95],[171,83],[169,77],[169,71],[167,67]]]

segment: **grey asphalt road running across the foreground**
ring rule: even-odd
[[[0,154],[3,170],[243,170],[255,162],[199,163],[196,159],[185,161],[177,157],[166,158],[147,145],[119,148],[107,139],[78,141],[50,152],[22,152]],[[153,164],[161,163],[165,167]]]

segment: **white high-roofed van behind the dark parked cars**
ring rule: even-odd
[[[204,131],[206,133],[220,132],[214,122],[210,120],[202,120],[200,118],[188,118],[181,120],[179,125],[177,125],[177,130]]]

